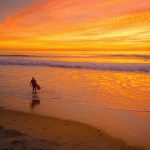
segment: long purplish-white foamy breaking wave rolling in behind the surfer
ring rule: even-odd
[[[134,63],[91,63],[91,62],[65,62],[48,60],[22,60],[0,58],[0,65],[24,65],[24,66],[49,66],[72,69],[93,69],[93,70],[111,70],[111,71],[133,71],[150,72],[150,64]]]

